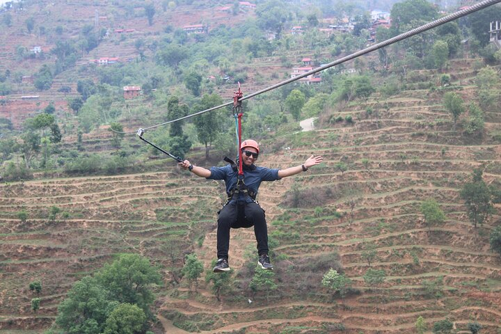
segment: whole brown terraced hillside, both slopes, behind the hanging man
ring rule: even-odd
[[[475,93],[471,62],[452,67],[465,100]],[[419,73],[423,81],[436,75]],[[326,161],[260,190],[276,265],[277,289],[269,296],[249,288],[252,230],[232,234],[236,283],[221,301],[210,285],[190,292],[180,280],[185,253],[195,251],[211,267],[222,186],[195,180],[172,161],[134,175],[0,184],[0,334],[48,328],[75,280],[125,252],[149,257],[164,273],[157,333],[415,333],[420,316],[429,329],[447,318],[463,333],[473,321],[482,333],[498,333],[501,260],[488,249],[488,234],[500,216],[473,228],[459,190],[473,168],[483,168],[486,182],[500,179],[501,145],[490,133],[501,116],[488,114],[483,141],[471,141],[454,127],[442,96],[440,90],[374,96],[328,111],[314,132],[263,143],[265,166],[301,164],[310,154]],[[348,115],[353,125],[333,121]],[[338,170],[339,161],[347,171]],[[427,198],[444,210],[443,225],[424,224],[420,205]],[[51,216],[52,207],[61,211]],[[370,263],[367,250],[375,252]],[[321,285],[330,268],[353,281],[344,299]],[[383,283],[366,283],[368,269],[385,271]],[[33,280],[42,283],[36,315]]]

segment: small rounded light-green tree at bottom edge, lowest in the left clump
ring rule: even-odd
[[[104,334],[140,334],[146,327],[146,315],[129,303],[118,305],[106,319]]]

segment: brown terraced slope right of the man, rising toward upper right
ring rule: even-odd
[[[454,63],[463,73],[470,65]],[[421,74],[423,80],[436,75]],[[461,78],[459,93],[466,99],[474,93],[468,86],[474,75]],[[489,130],[483,145],[464,138],[443,109],[442,95],[406,90],[388,99],[374,97],[367,106],[378,118],[369,118],[367,106],[357,103],[333,113],[353,116],[354,125],[331,124],[334,117],[325,117],[315,132],[273,138],[266,150],[274,155],[261,164],[301,164],[309,154],[322,154],[326,161],[308,173],[262,185],[259,199],[278,242],[273,254],[278,288],[269,301],[264,292],[248,288],[255,261],[248,253],[255,240],[251,230],[239,230],[230,241],[238,293],[217,301],[210,285],[198,292],[177,289],[161,306],[164,324],[171,331],[175,325],[201,333],[415,333],[421,316],[429,330],[449,319],[458,333],[470,333],[470,322],[481,324],[482,333],[499,333],[501,260],[489,250],[488,234],[500,216],[473,228],[459,191],[473,168],[483,168],[486,182],[500,180],[501,145]],[[486,129],[499,129],[500,123],[499,114],[486,117]],[[286,146],[291,150],[283,150]],[[348,166],[344,173],[337,169],[339,161]],[[445,212],[443,225],[424,223],[420,205],[428,198]],[[211,232],[198,250],[207,270],[215,248]],[[370,261],[368,250],[374,250]],[[353,281],[344,299],[321,285],[330,268]],[[366,283],[368,269],[383,270],[383,283]]]

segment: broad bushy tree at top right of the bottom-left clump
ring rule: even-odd
[[[154,296],[150,285],[161,283],[161,276],[150,261],[138,254],[121,254],[111,264],[105,264],[96,273],[97,282],[111,292],[120,303],[138,305],[150,315]]]

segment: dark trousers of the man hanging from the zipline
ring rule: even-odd
[[[257,241],[257,253],[268,254],[268,229],[264,210],[256,202],[244,204],[245,214],[239,213],[235,202],[225,205],[218,216],[218,259],[228,260],[230,249],[230,228],[250,228],[254,226]]]

